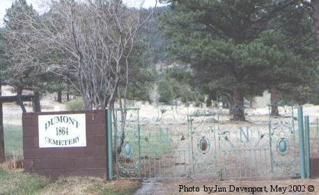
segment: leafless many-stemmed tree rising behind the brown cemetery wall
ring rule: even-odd
[[[56,53],[62,60],[42,58],[46,63],[39,65],[65,76],[86,109],[111,109],[116,98],[126,99],[134,37],[151,15],[142,20],[139,8],[127,8],[117,0],[52,0],[49,12],[32,26],[42,40],[40,52]],[[65,70],[68,76],[61,73]]]

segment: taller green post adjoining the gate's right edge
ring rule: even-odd
[[[299,131],[299,157],[301,178],[305,178],[305,162],[304,162],[304,119],[302,114],[302,106],[298,107],[298,131]]]

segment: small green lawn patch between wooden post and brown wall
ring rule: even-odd
[[[22,126],[4,125],[4,149],[8,160],[22,158]]]

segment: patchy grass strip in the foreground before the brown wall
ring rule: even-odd
[[[140,187],[133,180],[104,182],[101,178],[60,178],[49,180],[22,170],[0,169],[0,194],[54,195],[54,194],[105,194],[130,195]]]

